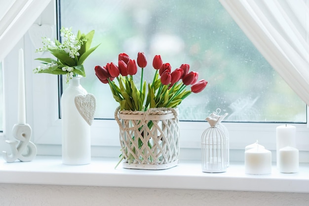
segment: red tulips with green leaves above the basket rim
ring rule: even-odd
[[[137,66],[142,70],[139,88],[133,81]],[[207,85],[205,80],[197,81],[198,73],[189,71],[189,64],[182,64],[180,68],[171,71],[171,65],[163,63],[160,55],[155,55],[154,79],[146,86],[146,80],[143,81],[146,66],[147,59],[143,52],[138,53],[137,61],[130,59],[125,53],[120,53],[118,65],[111,62],[103,67],[96,66],[94,70],[101,82],[110,85],[115,100],[120,104],[120,110],[147,111],[149,108],[174,108],[191,93],[198,93]],[[186,89],[188,85],[191,85],[191,90]]]

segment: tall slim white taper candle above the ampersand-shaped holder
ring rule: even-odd
[[[25,70],[24,51],[19,49],[18,53],[18,124],[26,124],[26,99],[25,99]]]

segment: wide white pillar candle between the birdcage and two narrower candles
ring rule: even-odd
[[[246,174],[270,174],[271,152],[259,146],[245,151]]]

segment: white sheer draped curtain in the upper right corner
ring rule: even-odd
[[[309,0],[220,0],[261,54],[309,105]]]

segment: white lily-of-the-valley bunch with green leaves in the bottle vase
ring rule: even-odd
[[[72,33],[72,28],[61,28],[60,36],[62,42],[51,41],[43,37],[43,48],[37,52],[49,51],[57,60],[53,58],[37,58],[42,61],[43,66],[34,69],[34,73],[48,73],[54,75],[67,75],[67,83],[77,75],[85,77],[83,62],[99,46],[90,48],[93,39],[94,30],[88,34],[82,34],[78,31],[77,36]]]

